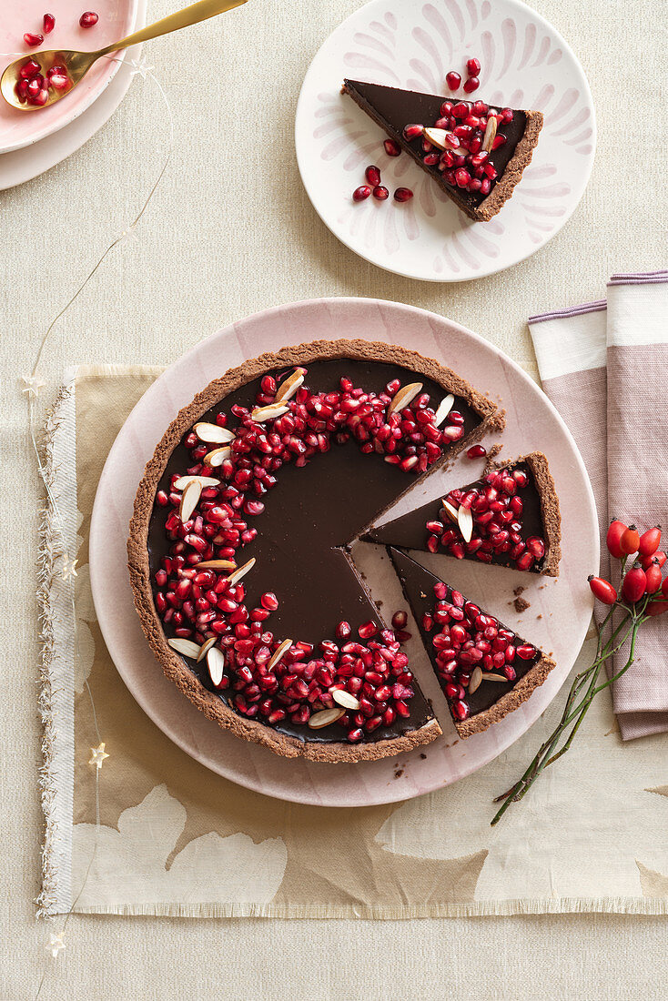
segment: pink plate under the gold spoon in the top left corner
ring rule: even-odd
[[[132,32],[137,24],[138,0],[96,0],[86,7],[82,0],[42,0],[28,3],[5,3],[0,18],[0,69],[18,58],[39,49],[101,49]],[[94,28],[80,28],[84,10],[94,9],[99,21]],[[48,10],[55,15],[56,26],[44,42],[30,49],[23,41],[26,31],[42,33],[42,17]],[[74,93],[57,104],[38,111],[19,111],[0,99],[0,153],[30,146],[68,125],[85,111],[106,89],[118,72],[118,60],[100,59]]]

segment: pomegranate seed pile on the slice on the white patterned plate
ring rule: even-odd
[[[499,111],[485,101],[444,101],[441,117],[433,126],[443,136],[443,148],[426,138],[423,125],[407,125],[404,138],[411,142],[422,137],[426,166],[436,167],[453,187],[466,188],[485,198],[498,173],[490,156],[505,144],[506,136],[501,129],[512,121],[511,108]]]

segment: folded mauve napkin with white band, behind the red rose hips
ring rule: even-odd
[[[607,300],[532,316],[543,388],[568,424],[594,489],[601,575],[609,577],[611,519],[668,535],[668,440],[660,400],[668,362],[668,271],[615,274]],[[613,582],[616,583],[616,582]],[[646,623],[636,660],[613,687],[623,740],[668,731],[668,621]],[[619,655],[614,668],[626,662]]]

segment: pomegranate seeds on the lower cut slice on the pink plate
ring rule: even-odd
[[[439,583],[434,594],[436,605],[425,614],[423,629],[431,634],[436,627],[431,641],[441,687],[453,716],[466,720],[471,713],[467,696],[488,682],[512,684],[517,678],[516,658],[536,662],[540,653],[459,591]]]

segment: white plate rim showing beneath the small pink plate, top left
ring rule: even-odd
[[[134,28],[139,28],[144,23],[145,14],[146,0],[137,0]],[[76,118],[68,124],[63,124],[50,135],[40,139],[39,142],[21,146],[12,152],[2,153],[0,155],[0,191],[16,187],[18,184],[32,180],[33,177],[38,177],[80,149],[108,121],[125,97],[132,80],[132,67],[129,65],[129,60],[138,59],[140,52],[141,46],[135,45],[126,53],[120,53],[119,58],[113,63],[116,72],[109,80],[108,85],[89,107],[77,114]],[[123,55],[127,60],[125,62],[121,62]]]

